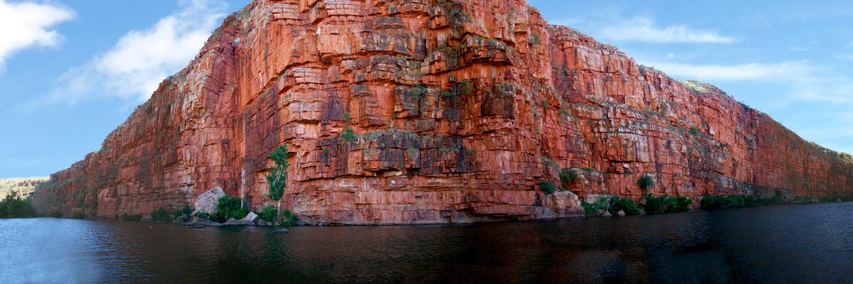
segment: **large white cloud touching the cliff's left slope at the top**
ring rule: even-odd
[[[181,0],[181,9],[143,31],[130,31],[106,54],[69,69],[50,92],[74,103],[92,96],[142,102],[165,77],[180,71],[204,45],[225,14],[218,0]],[[103,94],[96,94],[103,93]]]

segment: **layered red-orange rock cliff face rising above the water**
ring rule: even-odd
[[[523,0],[256,0],[34,201],[113,217],[245,185],[257,210],[273,204],[264,173],[281,143],[282,207],[307,224],[580,217],[591,194],[853,191],[850,155]]]

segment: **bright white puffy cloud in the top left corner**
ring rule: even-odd
[[[59,46],[64,37],[51,28],[73,18],[74,11],[64,7],[0,0],[0,71],[5,60],[21,49]]]

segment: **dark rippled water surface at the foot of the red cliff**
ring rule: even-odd
[[[853,202],[272,230],[0,219],[0,282],[853,282]]]

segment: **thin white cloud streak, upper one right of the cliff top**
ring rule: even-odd
[[[618,21],[616,25],[602,28],[600,34],[602,37],[613,40],[649,43],[735,43],[738,41],[734,37],[721,37],[717,32],[711,31],[695,31],[687,26],[667,26],[660,29],[654,26],[653,20],[645,17]]]

